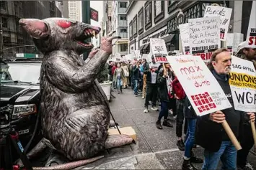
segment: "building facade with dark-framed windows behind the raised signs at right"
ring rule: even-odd
[[[252,1],[130,1],[126,11],[129,53],[140,50],[149,54],[150,38],[164,39],[167,51],[182,52],[178,24],[203,17],[208,5],[232,8],[229,32],[242,33],[246,39]]]

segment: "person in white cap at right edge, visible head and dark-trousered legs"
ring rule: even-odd
[[[256,69],[256,48],[247,48],[246,42],[241,42],[238,45],[237,57],[241,57],[244,60],[253,62],[253,65]],[[237,168],[238,169],[253,169],[252,166],[247,163],[247,156],[250,152],[250,149],[254,145],[252,128],[250,126],[249,120],[244,120],[242,123],[242,128],[240,128],[239,141],[242,146],[242,149],[237,152]]]

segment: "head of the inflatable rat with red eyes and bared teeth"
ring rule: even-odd
[[[82,54],[93,48],[85,40],[97,37],[100,32],[99,27],[64,18],[20,19],[19,25],[30,34],[37,49],[43,53],[68,49]]]

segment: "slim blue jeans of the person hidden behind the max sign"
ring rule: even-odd
[[[197,118],[187,118],[187,133],[185,142],[185,154],[187,158],[191,157],[191,149],[195,143],[195,126]]]

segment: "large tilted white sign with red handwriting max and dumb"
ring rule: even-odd
[[[200,56],[168,56],[167,60],[197,115],[232,107],[219,82]]]

